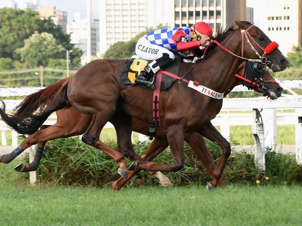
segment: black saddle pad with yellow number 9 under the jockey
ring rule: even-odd
[[[175,57],[173,63],[169,67],[164,68],[164,71],[168,71],[172,74],[178,75],[180,61],[181,61],[180,57]],[[141,71],[144,70],[144,67],[149,62],[143,59],[136,59],[136,58],[127,59],[122,67],[119,82],[123,84],[131,84],[131,85],[136,84],[136,82],[134,81],[135,78],[140,74]],[[168,75],[162,74],[160,91],[168,89],[170,86],[172,86],[172,84],[176,80],[177,80],[176,78],[172,78]],[[141,84],[139,85],[142,86],[143,88],[153,90],[145,85],[141,85]]]

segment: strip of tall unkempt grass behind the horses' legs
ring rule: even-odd
[[[116,148],[116,142],[111,140],[108,145]],[[142,155],[149,142],[134,143],[134,149]],[[214,162],[221,156],[220,146],[207,140]],[[166,172],[175,186],[205,185],[211,180],[203,164],[186,143],[185,166],[177,172]],[[27,160],[26,160],[27,161]],[[154,159],[156,162],[172,164],[169,148]],[[127,160],[128,164],[130,161]],[[57,139],[48,142],[40,168],[37,171],[38,181],[41,184],[80,187],[110,187],[111,182],[119,178],[119,165],[107,154],[87,146],[78,137]],[[302,184],[302,166],[297,165],[294,155],[284,155],[268,149],[266,154],[266,171],[255,167],[254,155],[233,150],[230,159],[223,171],[223,180],[227,183],[255,185],[256,180],[268,184]],[[266,180],[265,177],[269,177]],[[142,178],[143,186],[154,186],[158,180],[147,172],[141,171],[137,178]],[[136,186],[130,180],[127,186]]]

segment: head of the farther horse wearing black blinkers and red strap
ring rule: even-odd
[[[238,74],[244,77],[237,78],[237,84],[241,83],[248,89],[254,89],[263,96],[274,100],[281,96],[283,88],[275,81],[275,79],[264,71],[262,65],[257,62],[243,62],[238,68]],[[234,85],[233,85],[234,86]]]

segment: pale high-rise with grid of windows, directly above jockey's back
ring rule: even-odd
[[[127,42],[147,28],[172,26],[172,0],[103,0],[99,2],[100,53]]]

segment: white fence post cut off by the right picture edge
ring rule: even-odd
[[[296,162],[302,164],[302,108],[296,108],[297,122],[295,124]]]

